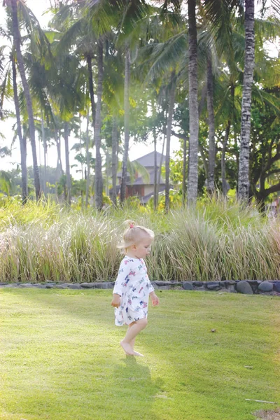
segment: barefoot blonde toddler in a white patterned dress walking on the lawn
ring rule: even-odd
[[[130,356],[143,356],[134,351],[134,342],[148,323],[149,295],[153,306],[159,304],[144,262],[155,235],[153,230],[135,225],[132,221],[126,223],[129,223],[129,227],[124,232],[122,244],[118,246],[125,250],[125,258],[120,263],[111,305],[115,307],[116,325],[128,325],[125,338],[120,342],[123,350]]]

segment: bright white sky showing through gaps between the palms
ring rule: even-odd
[[[255,3],[257,5],[257,0],[255,0]],[[269,1],[267,1],[267,4],[269,4]],[[36,15],[36,18],[38,18],[41,27],[45,28],[48,26],[48,20],[49,15],[48,13],[45,13],[45,10],[47,10],[50,7],[50,1],[49,0],[27,0],[27,5],[31,10],[33,11],[34,15]],[[259,7],[259,6],[258,6]],[[6,13],[2,6],[2,2],[0,2],[0,25],[3,25],[6,20]],[[3,44],[3,40],[0,38],[0,45]],[[269,50],[271,51],[272,55],[277,55],[278,51],[275,47],[275,45],[268,45]],[[8,104],[6,102],[5,109],[11,109],[13,110],[13,103],[11,102]],[[0,120],[0,133],[4,134],[5,139],[0,139],[0,147],[8,146],[10,148],[12,139],[13,139],[13,125],[15,123],[15,120],[9,119],[7,121],[1,121]],[[69,141],[69,149],[71,149],[71,146],[73,144],[77,143],[78,139],[74,139],[71,137]],[[38,159],[38,165],[43,165],[43,147],[41,146],[41,143],[37,140],[36,141],[36,147],[37,147],[37,159]],[[157,150],[162,153],[162,138],[158,139],[158,147]],[[172,137],[171,141],[171,153],[174,155],[176,151],[179,150],[179,140],[176,137]],[[140,158],[141,156],[146,155],[147,153],[151,153],[153,151],[153,144],[152,141],[148,141],[147,144],[135,144],[132,139],[130,140],[130,151],[129,151],[129,158],[130,160],[135,160],[137,158]],[[62,141],[62,165],[65,168],[65,162],[64,162],[64,142]],[[74,159],[75,152],[70,152],[70,165],[77,164],[78,162]],[[48,148],[48,165],[50,167],[56,167],[57,164],[57,152],[56,147],[51,146]],[[3,170],[10,170],[15,169],[17,165],[20,165],[20,148],[18,146],[18,140],[15,142],[15,145],[12,149],[12,155],[7,156],[5,158],[0,158],[0,169]],[[27,165],[32,165],[32,155],[31,155],[31,146],[28,144],[27,146]],[[71,169],[71,175],[74,179],[79,179],[80,174],[76,172],[76,169],[80,168],[72,168]]]

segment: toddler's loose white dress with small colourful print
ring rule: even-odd
[[[125,256],[120,263],[113,288],[113,293],[120,295],[120,307],[115,308],[116,325],[130,325],[134,321],[146,318],[148,298],[153,290],[144,260]]]

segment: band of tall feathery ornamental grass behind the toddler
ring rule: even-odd
[[[221,198],[174,209],[63,209],[51,202],[0,207],[0,281],[116,279],[116,246],[132,219],[155,231],[152,280],[280,279],[280,220]]]

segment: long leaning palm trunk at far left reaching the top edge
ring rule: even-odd
[[[27,104],[27,113],[28,113],[28,120],[29,120],[29,137],[30,137],[30,142],[31,142],[33,169],[34,169],[34,185],[35,185],[36,200],[38,200],[41,196],[41,188],[40,188],[40,176],[39,176],[39,169],[38,169],[38,163],[37,163],[37,155],[36,155],[34,116],[33,116],[33,109],[32,109],[31,94],[29,90],[29,85],[27,83],[27,78],[25,75],[25,66],[23,62],[22,52],[20,49],[20,28],[18,25],[17,0],[10,0],[10,4],[12,7],[13,38],[14,38],[14,43],[15,43],[15,49],[17,51],[18,69],[20,71],[20,78],[22,79],[22,87],[25,94],[26,104]]]

